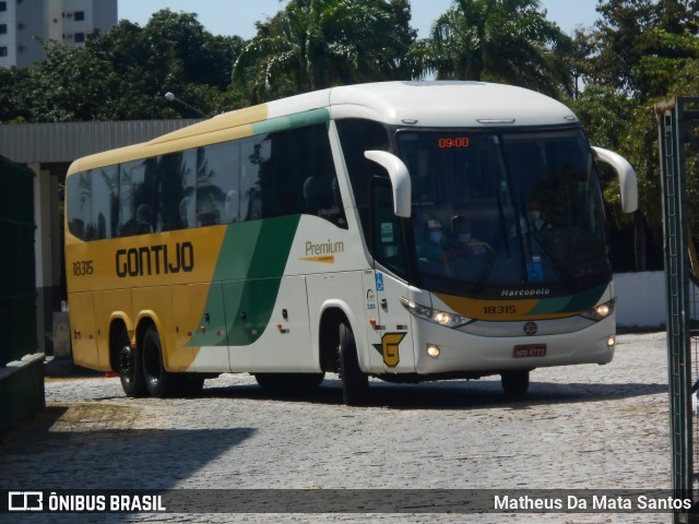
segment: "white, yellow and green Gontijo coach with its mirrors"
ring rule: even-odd
[[[482,82],[333,87],[75,160],[66,257],[76,364],[130,396],[221,372],[262,386],[606,364],[615,294],[578,118]]]

